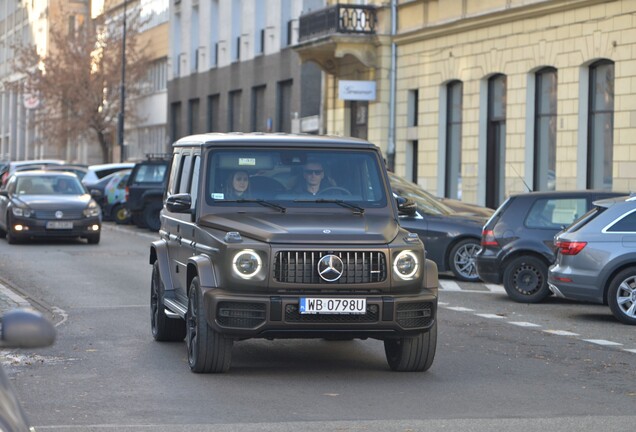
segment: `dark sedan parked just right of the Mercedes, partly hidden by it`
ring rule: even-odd
[[[426,246],[426,257],[435,261],[440,272],[452,272],[462,281],[479,280],[475,255],[481,249],[484,216],[457,212],[413,183],[405,185],[389,176],[393,192],[413,200],[417,211],[400,215],[400,225],[417,233]]]

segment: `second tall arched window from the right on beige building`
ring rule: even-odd
[[[535,75],[534,190],[556,188],[557,70]]]

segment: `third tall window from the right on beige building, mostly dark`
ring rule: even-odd
[[[488,80],[486,136],[486,206],[497,208],[504,198],[506,164],[506,76]]]

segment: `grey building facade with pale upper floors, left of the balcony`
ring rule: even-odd
[[[202,132],[323,131],[322,75],[292,49],[322,0],[172,0],[171,141]]]

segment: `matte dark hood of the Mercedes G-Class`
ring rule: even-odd
[[[285,244],[387,244],[399,225],[383,214],[337,213],[228,213],[205,216],[201,225],[238,231],[244,237]]]

